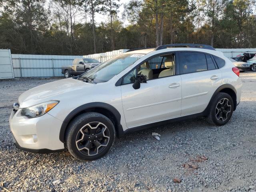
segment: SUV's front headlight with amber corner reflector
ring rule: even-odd
[[[20,111],[21,116],[26,116],[27,118],[35,118],[40,117],[54,108],[60,101],[47,101],[44,103],[40,103],[28,108],[22,108]]]

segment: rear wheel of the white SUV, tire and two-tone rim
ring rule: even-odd
[[[210,106],[207,120],[210,124],[222,126],[230,120],[233,110],[232,97],[229,94],[219,92]]]

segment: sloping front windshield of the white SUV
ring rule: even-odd
[[[101,83],[110,80],[115,75],[134,64],[144,54],[121,54],[107,60],[106,62],[92,68],[79,78],[90,79],[94,83]]]

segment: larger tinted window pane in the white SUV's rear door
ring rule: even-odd
[[[180,64],[183,74],[207,70],[205,54],[195,52],[180,52]]]

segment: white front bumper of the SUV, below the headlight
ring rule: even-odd
[[[20,110],[12,111],[9,123],[17,148],[35,153],[50,153],[64,149],[60,141],[62,121],[46,113],[37,118],[19,116]]]

